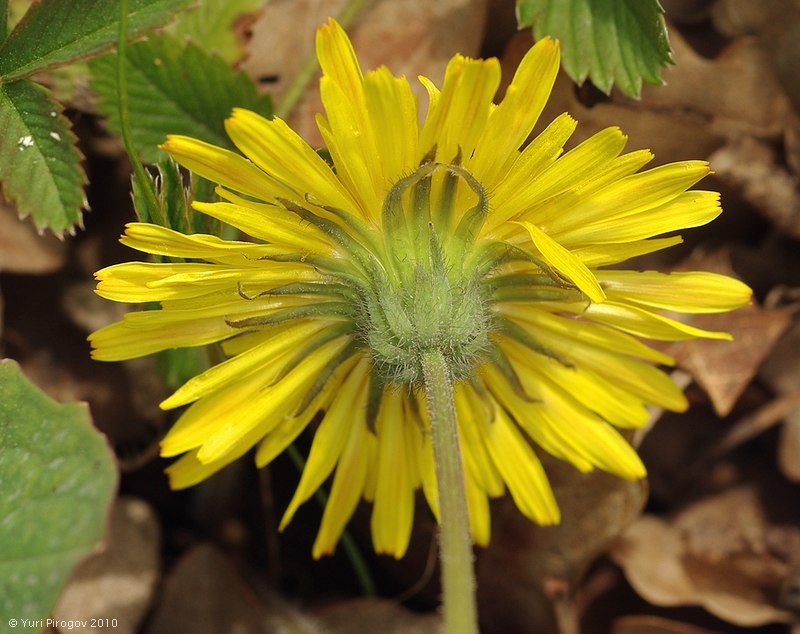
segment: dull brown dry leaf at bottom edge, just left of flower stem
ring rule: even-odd
[[[438,614],[415,614],[388,599],[351,599],[316,611],[326,634],[439,634]]]

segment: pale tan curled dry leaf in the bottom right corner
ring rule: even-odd
[[[793,552],[774,552],[774,534]],[[742,627],[793,622],[778,605],[800,555],[800,529],[768,523],[753,486],[696,502],[672,521],[645,515],[611,550],[628,581],[659,606],[700,605]]]

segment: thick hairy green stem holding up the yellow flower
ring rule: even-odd
[[[472,537],[453,404],[453,384],[440,350],[428,350],[422,355],[422,372],[428,397],[439,491],[439,560],[442,565],[444,631],[446,634],[478,634]]]

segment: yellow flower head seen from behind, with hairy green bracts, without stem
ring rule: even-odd
[[[455,382],[473,539],[490,536],[489,498],[507,490],[542,524],[559,510],[532,444],[580,471],[645,469],[616,428],[648,405],[686,400],[656,366],[672,359],[637,337],[726,338],[662,314],[734,309],[742,283],[711,273],[606,269],[678,244],[664,233],[705,224],[718,194],[686,161],[639,171],[608,128],[565,152],[576,123],[556,118],[525,144],[558,69],[545,39],[503,100],[496,59],[456,55],[420,125],[409,83],[362,74],[334,21],[317,37],[329,165],[285,122],[235,110],[226,129],[244,156],[173,136],[164,149],[219,183],[224,202],[194,208],[255,240],[128,225],[122,242],[179,263],[125,263],[97,292],[160,302],[91,336],[113,361],[221,342],[228,360],[163,408],[190,405],[164,438],[181,488],[250,448],[268,464],[312,421],[315,433],[283,518],[332,474],[314,555],[333,551],[363,498],[378,552],[405,552],[422,488],[438,513],[421,352],[441,350]]]

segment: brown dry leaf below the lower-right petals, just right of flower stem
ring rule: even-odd
[[[577,632],[581,577],[644,505],[642,481],[549,460],[547,472],[561,507],[558,526],[533,524],[508,498],[493,506],[492,542],[477,562],[487,634]]]

